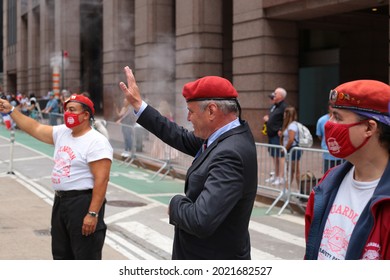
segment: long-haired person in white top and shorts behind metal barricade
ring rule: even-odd
[[[289,183],[292,184],[292,178],[294,178],[297,182],[297,186],[299,187],[300,181],[300,170],[299,170],[299,160],[302,156],[301,150],[294,150],[291,152],[291,149],[294,147],[298,147],[298,126],[296,123],[297,120],[297,111],[292,106],[287,106],[284,110],[283,117],[283,125],[280,132],[280,144],[284,146],[287,150],[286,160],[289,161],[288,166],[291,166],[290,170],[290,178],[288,178]],[[291,161],[291,162],[290,162]]]

